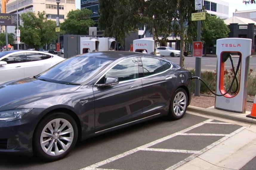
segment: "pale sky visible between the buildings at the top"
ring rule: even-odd
[[[256,4],[244,4],[243,0],[223,0],[229,2],[229,17],[233,16],[233,13],[237,9],[238,11],[243,10],[256,10]],[[81,0],[75,0],[76,8],[80,9]]]

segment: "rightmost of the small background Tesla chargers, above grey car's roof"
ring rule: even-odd
[[[133,40],[133,52],[141,52],[141,50],[146,50],[147,54],[154,52],[154,40]]]

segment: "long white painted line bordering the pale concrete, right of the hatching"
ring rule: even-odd
[[[206,146],[205,148],[203,148],[202,150],[200,150],[200,151],[198,152],[198,154],[190,155],[190,156],[187,157],[186,159],[184,159],[184,160],[182,160],[182,161],[176,163],[175,165],[173,165],[173,166],[171,166],[171,167],[169,167],[169,168],[167,168],[167,169],[165,169],[165,170],[174,170],[174,169],[178,168],[179,166],[181,166],[181,165],[183,165],[183,164],[189,162],[190,160],[194,159],[194,158],[197,157],[198,155],[203,154],[204,152],[206,152],[206,151],[208,151],[209,149],[213,148],[214,146],[220,144],[221,142],[225,141],[226,139],[230,138],[231,136],[233,136],[233,135],[237,134],[238,132],[244,130],[245,128],[246,128],[246,127],[241,127],[241,128],[239,128],[238,130],[236,130],[236,131],[234,131],[234,132],[232,132],[232,133],[226,135],[225,137],[223,137],[223,138],[219,139],[218,141],[216,141],[216,142],[210,144],[209,146]]]

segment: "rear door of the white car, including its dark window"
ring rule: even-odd
[[[25,77],[35,76],[47,68],[50,68],[50,59],[52,56],[39,52],[27,52],[26,62],[24,63],[24,74]]]

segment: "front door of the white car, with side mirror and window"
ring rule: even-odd
[[[24,53],[7,55],[1,61],[7,65],[0,66],[0,83],[24,78]]]

